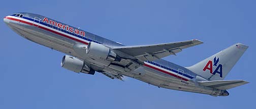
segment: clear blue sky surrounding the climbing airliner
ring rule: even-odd
[[[226,80],[250,82],[227,97],[157,88],[60,67],[64,53],[30,42],[2,21],[0,108],[252,108],[255,102],[255,1],[2,1],[1,17],[36,13],[121,42],[199,39],[165,60],[190,66],[236,42],[249,46]]]

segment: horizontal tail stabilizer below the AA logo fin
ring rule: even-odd
[[[218,80],[218,81],[198,81],[202,86],[216,88],[220,90],[231,89],[240,85],[247,84],[249,82],[244,80]]]

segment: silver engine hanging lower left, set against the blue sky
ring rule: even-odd
[[[82,60],[79,60],[72,56],[64,56],[61,61],[61,67],[74,71],[76,73],[86,73],[94,75],[95,71],[84,64]]]

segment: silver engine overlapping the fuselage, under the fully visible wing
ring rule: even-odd
[[[112,51],[109,47],[95,42],[89,42],[86,53],[90,57],[95,57],[103,60],[117,62],[121,61],[121,57],[116,55],[116,53]]]

